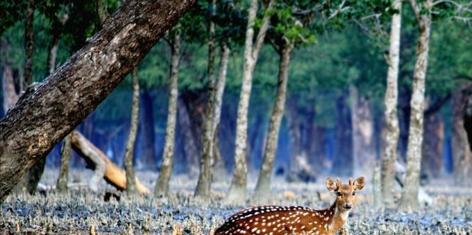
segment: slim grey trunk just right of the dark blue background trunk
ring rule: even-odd
[[[180,34],[173,32],[171,39],[171,69],[169,76],[169,111],[167,113],[167,126],[165,130],[164,153],[158,181],[155,183],[154,195],[167,195],[169,193],[169,181],[172,175],[174,158],[174,143],[176,141],[177,96],[178,96],[178,61],[180,58]]]

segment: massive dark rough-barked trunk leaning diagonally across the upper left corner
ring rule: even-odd
[[[95,110],[194,2],[126,1],[56,73],[26,89],[0,121],[0,202],[37,160]]]

